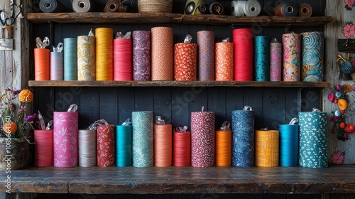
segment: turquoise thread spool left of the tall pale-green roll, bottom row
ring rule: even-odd
[[[116,166],[132,166],[132,126],[116,126]]]

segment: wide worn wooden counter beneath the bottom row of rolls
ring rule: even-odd
[[[11,171],[11,192],[85,194],[355,193],[355,166],[30,167]],[[5,171],[2,176],[6,177]],[[2,177],[1,177],[2,178]],[[3,178],[4,179],[4,178]],[[1,181],[4,188],[6,181]]]

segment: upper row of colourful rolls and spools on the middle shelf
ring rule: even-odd
[[[233,43],[198,31],[197,43],[174,45],[169,27],[113,36],[112,28],[97,28],[95,36],[64,38],[64,52],[35,48],[35,80],[323,80],[322,32],[283,34],[282,43],[253,38],[251,28],[234,29]]]

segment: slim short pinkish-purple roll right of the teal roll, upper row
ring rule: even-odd
[[[281,81],[282,77],[282,55],[283,45],[275,38],[270,43],[270,80]]]

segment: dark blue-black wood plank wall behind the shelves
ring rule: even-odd
[[[62,1],[70,11],[69,1]],[[133,1],[136,4],[136,1]],[[230,1],[219,1],[229,12]],[[314,16],[324,14],[324,1],[295,1],[311,4]],[[96,11],[101,11],[106,0],[94,1]],[[273,1],[261,1],[262,4],[273,4]],[[182,13],[185,1],[174,0],[173,12]],[[232,38],[231,26],[205,26],[183,24],[53,24],[54,45],[63,38],[87,35],[90,28],[110,27],[114,33],[121,31],[150,30],[155,26],[174,28],[174,43],[183,42],[186,34],[190,34],[192,42],[197,41],[197,31],[211,30],[215,40]],[[253,24],[255,35],[267,35],[281,41],[284,28],[269,28],[268,24]],[[35,37],[50,36],[48,23],[33,25]],[[241,28],[241,27],[234,27]],[[250,26],[249,26],[250,28]],[[322,28],[290,28],[290,31],[322,31]],[[34,43],[31,43],[34,48]],[[53,44],[51,44],[53,45]],[[33,65],[33,60],[31,60]],[[33,72],[33,70],[32,70]],[[122,124],[131,117],[131,112],[150,110],[161,115],[173,127],[187,125],[190,127],[190,112],[213,111],[216,114],[216,129],[225,120],[231,121],[231,112],[243,109],[244,105],[253,107],[255,111],[256,129],[268,127],[277,129],[278,124],[287,124],[297,117],[298,111],[311,111],[312,107],[321,107],[321,89],[315,88],[280,88],[280,87],[35,87],[34,109],[40,110],[46,122],[53,119],[53,111],[66,111],[70,104],[78,104],[80,113],[79,128],[84,129],[97,119],[105,119],[109,124]],[[302,103],[301,103],[302,102]],[[275,194],[191,194],[191,195],[58,195],[40,194],[39,198],[321,198],[321,195],[275,195]]]

